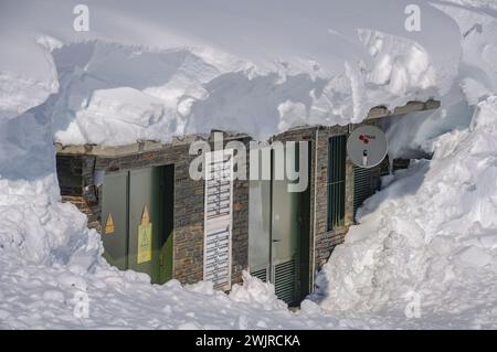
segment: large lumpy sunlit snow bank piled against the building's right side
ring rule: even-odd
[[[321,308],[403,310],[416,292],[423,314],[495,327],[496,117],[493,96],[477,106],[469,130],[441,137],[431,162],[400,173],[366,203],[361,225],[325,266]]]

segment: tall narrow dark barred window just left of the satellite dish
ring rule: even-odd
[[[328,142],[328,231],[345,225],[347,136],[334,136]]]

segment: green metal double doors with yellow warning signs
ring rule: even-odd
[[[119,269],[172,278],[173,166],[112,172],[102,200],[104,257]]]

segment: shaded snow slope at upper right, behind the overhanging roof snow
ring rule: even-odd
[[[472,3],[478,1],[452,1]],[[448,3],[434,7],[447,13],[459,26],[462,56],[458,78],[442,99],[436,111],[408,114],[392,121],[389,127],[389,152],[393,157],[420,157],[434,151],[436,138],[451,130],[464,130],[469,126],[474,106],[497,92],[497,22],[495,14]],[[479,7],[495,7],[480,1]]]

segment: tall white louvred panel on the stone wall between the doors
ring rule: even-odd
[[[230,150],[208,154],[203,279],[216,289],[231,286],[232,167]]]

